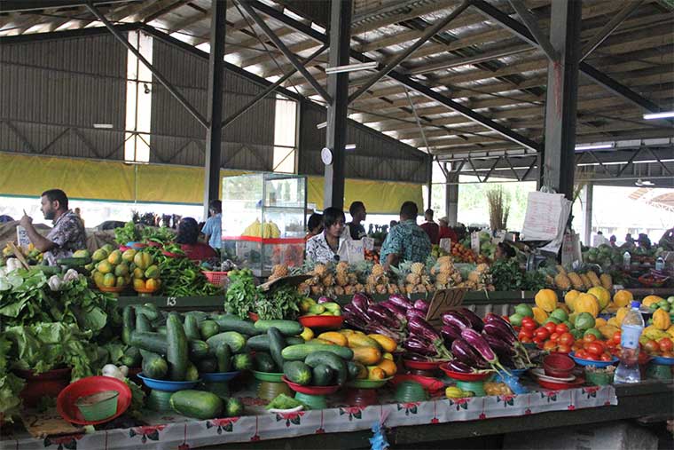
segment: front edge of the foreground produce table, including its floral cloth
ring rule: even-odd
[[[388,396],[388,397],[387,397]],[[674,384],[584,387],[533,391],[511,396],[388,403],[373,407],[331,407],[294,414],[270,414],[251,391],[238,397],[245,415],[195,421],[176,414],[145,415],[145,427],[99,430],[91,434],[45,439],[4,436],[0,448],[196,448],[239,443],[238,447],[355,448],[368,446],[372,424],[384,420],[392,444],[574,426],[647,415],[674,414]],[[390,392],[381,394],[390,399]],[[333,405],[339,405],[339,398]],[[415,425],[415,426],[411,426]],[[325,438],[324,433],[331,433]],[[74,446],[75,445],[75,446]]]

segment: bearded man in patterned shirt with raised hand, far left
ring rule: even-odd
[[[56,265],[62,257],[72,257],[75,250],[87,248],[87,235],[80,217],[68,209],[66,193],[60,189],[50,189],[40,199],[44,218],[54,221],[54,227],[47,236],[37,233],[33,219],[24,214],[20,224],[26,228],[30,241],[35,249],[44,253],[44,261]],[[24,211],[25,212],[25,211]]]

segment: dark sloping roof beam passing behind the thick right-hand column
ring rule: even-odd
[[[473,5],[484,15],[490,17],[493,20],[496,20],[499,24],[501,24],[501,26],[512,31],[515,36],[519,36],[522,40],[531,43],[536,47],[540,47],[540,44],[537,42],[536,38],[531,33],[529,33],[529,30],[519,21],[514,20],[484,0],[473,0]],[[660,110],[660,108],[657,107],[657,105],[655,105],[652,101],[643,98],[635,91],[631,91],[630,88],[621,83],[618,83],[610,76],[601,74],[600,71],[596,70],[594,67],[591,67],[589,64],[581,62],[578,68],[583,75],[590,77],[592,81],[599,83],[600,85],[606,87],[608,91],[622,96],[624,99],[635,103],[639,107],[642,107],[652,113],[658,112]]]

